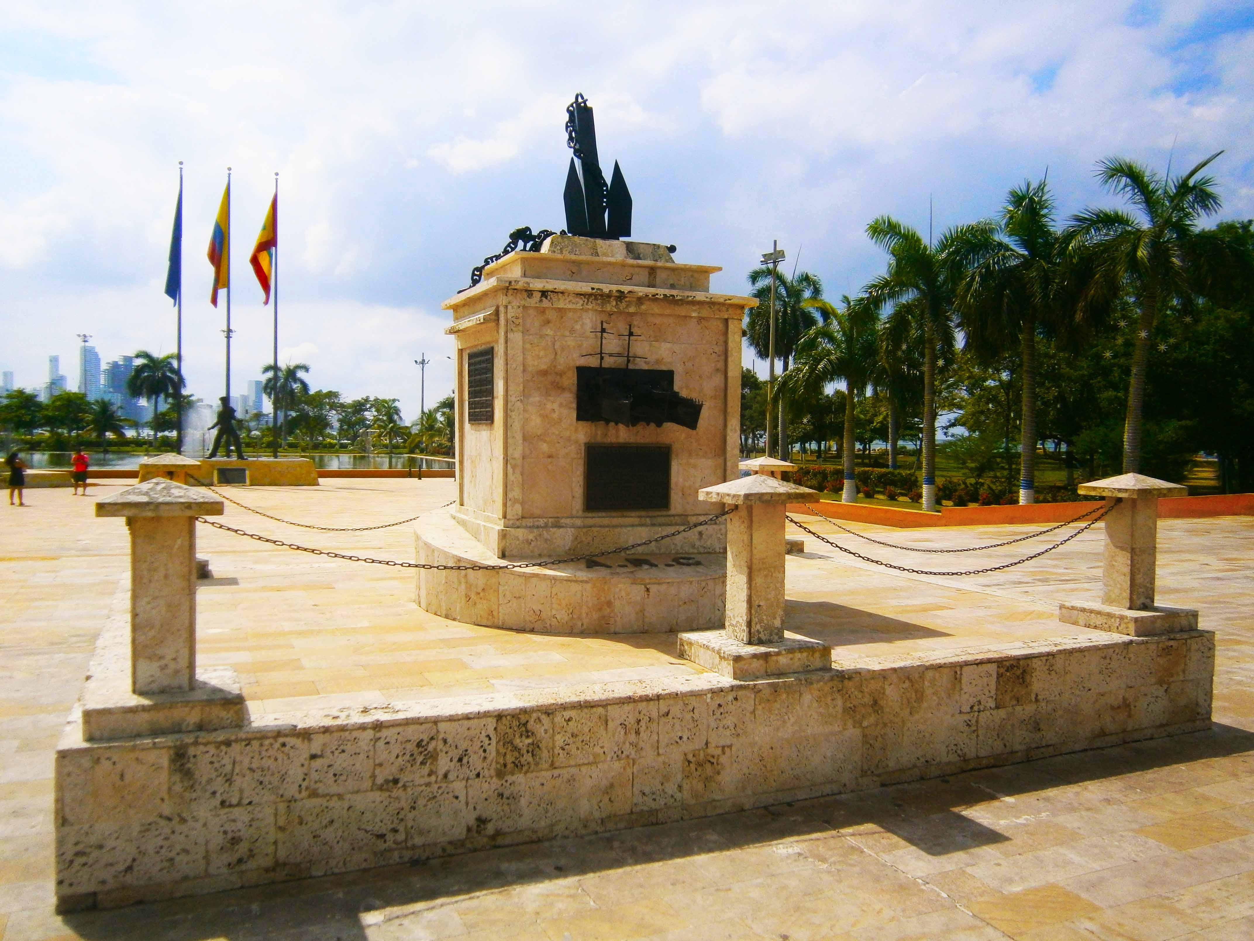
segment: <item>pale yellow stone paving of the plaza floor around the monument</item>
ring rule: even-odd
[[[92,496],[117,493],[95,486]],[[451,481],[325,481],[236,489],[325,527],[438,507]],[[1254,937],[1254,518],[1160,524],[1159,597],[1218,632],[1213,730],[875,792],[410,866],[161,902],[53,913],[56,736],[110,606],[127,533],[93,498],[31,491],[0,524],[0,938],[1249,938]],[[409,526],[297,529],[228,506],[273,538],[411,560]],[[915,568],[912,553],[836,534]],[[1018,527],[850,528],[915,547]],[[1047,538],[1047,537],[1046,537]],[[198,656],[241,675],[253,713],[465,696],[686,674],[667,635],[561,637],[420,611],[413,572],[292,552],[199,527],[214,580]],[[1042,543],[1043,545],[1043,543]],[[1025,546],[974,553],[987,565]],[[1076,636],[1060,601],[1099,593],[1100,527],[1022,567],[907,576],[813,538],[789,562],[789,626],[841,665]],[[920,560],[927,560],[920,563]]]

